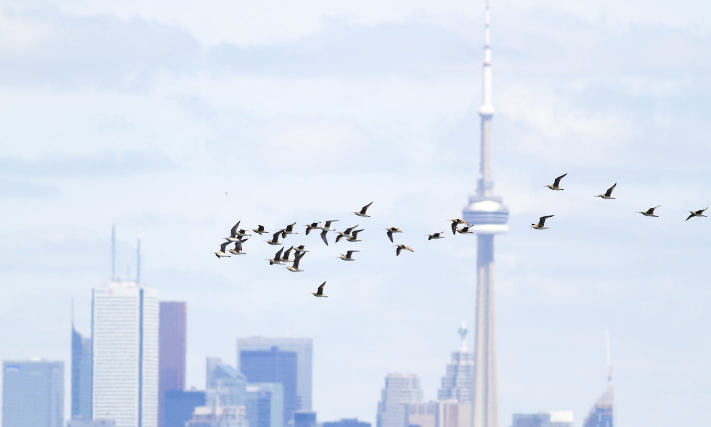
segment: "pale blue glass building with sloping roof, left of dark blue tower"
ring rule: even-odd
[[[221,359],[216,357],[206,358],[205,386],[208,391],[215,393],[208,394],[208,406],[214,404],[215,396],[220,399],[220,406],[240,406],[245,404],[247,396],[247,377],[234,367],[223,364]]]

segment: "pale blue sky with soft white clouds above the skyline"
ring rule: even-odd
[[[374,423],[389,372],[436,399],[474,321],[476,237],[424,235],[476,183],[483,4],[4,1],[0,358],[65,361],[68,416],[70,301],[89,334],[116,223],[118,275],[140,238],[141,280],[188,303],[188,386],[205,357],[234,363],[237,337],[291,335],[314,339],[319,421]],[[560,409],[579,426],[606,387],[606,329],[617,423],[705,419],[711,223],[683,212],[711,204],[710,14],[491,1],[501,426]],[[270,267],[266,236],[208,254],[237,220],[326,219],[363,242],[297,230],[303,273]],[[415,252],[396,258],[387,226]],[[308,295],[324,280],[328,300]]]

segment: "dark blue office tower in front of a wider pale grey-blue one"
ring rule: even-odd
[[[250,383],[281,383],[284,387],[284,425],[293,421],[296,412],[296,352],[284,352],[272,347],[269,350],[242,350],[240,371]]]

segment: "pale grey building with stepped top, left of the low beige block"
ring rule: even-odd
[[[380,391],[377,427],[407,427],[406,404],[422,402],[422,389],[415,374],[387,374]]]

